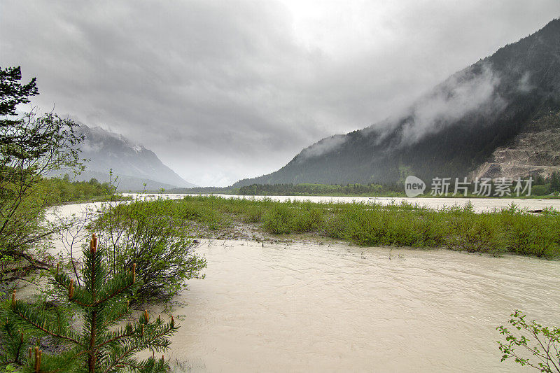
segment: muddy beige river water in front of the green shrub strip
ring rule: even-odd
[[[344,243],[197,251],[207,277],[177,297],[166,354],[188,372],[527,372],[500,363],[496,326],[514,309],[560,325],[557,261]]]

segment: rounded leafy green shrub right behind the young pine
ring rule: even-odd
[[[136,263],[143,281],[140,300],[167,299],[190,279],[204,278],[204,257],[195,253],[196,244],[184,220],[169,215],[176,202],[158,199],[135,200],[130,204],[109,204],[94,223],[108,251],[108,267],[116,273]]]

